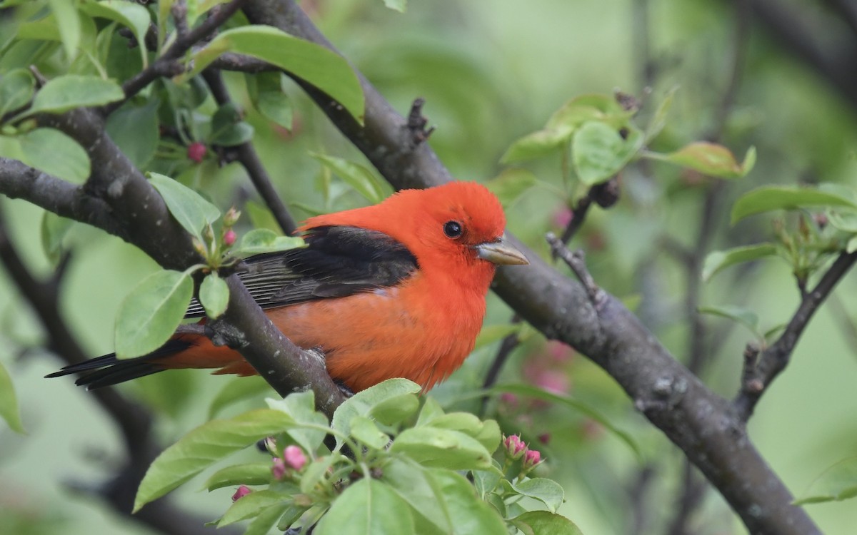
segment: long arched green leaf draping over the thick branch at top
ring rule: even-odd
[[[225,52],[237,52],[273,63],[309,82],[348,110],[363,124],[363,88],[342,56],[321,45],[297,39],[267,26],[232,28],[219,33],[193,56],[194,76]]]

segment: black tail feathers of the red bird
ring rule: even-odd
[[[105,354],[94,359],[63,366],[58,372],[49,373],[45,377],[62,377],[71,373],[80,373],[75,384],[87,389],[99,389],[117,383],[124,383],[137,377],[152,375],[168,369],[154,359],[178,353],[190,347],[190,342],[181,338],[173,338],[152,353],[136,359],[119,360],[115,353]]]

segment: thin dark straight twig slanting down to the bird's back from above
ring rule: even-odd
[[[222,106],[231,102],[229,92],[227,91],[226,85],[223,81],[223,76],[221,76],[219,71],[207,68],[202,73],[202,77],[205,78],[206,83],[214,96],[214,100],[217,101],[219,105]],[[283,229],[283,232],[286,235],[294,234],[297,229],[295,219],[294,217],[291,217],[289,209],[286,208],[283,200],[279,198],[279,194],[277,193],[277,190],[274,189],[273,183],[271,182],[271,177],[267,174],[265,166],[262,165],[261,159],[259,159],[259,155],[256,153],[253,144],[248,141],[233,148],[237,153],[238,162],[240,162],[247,171],[250,181],[253,182],[256,191],[259,192],[261,198],[265,201],[268,209],[273,214],[274,219],[277,220],[280,229]]]

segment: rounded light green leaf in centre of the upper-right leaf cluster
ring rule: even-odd
[[[586,186],[608,181],[631,161],[641,146],[638,128],[625,127],[626,136],[606,122],[584,122],[572,137],[572,161]]]

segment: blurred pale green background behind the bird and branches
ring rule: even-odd
[[[504,169],[499,158],[513,140],[542,128],[561,104],[584,93],[632,93],[642,98],[640,115],[645,118],[668,89],[679,86],[656,146],[668,151],[704,139],[722,118],[738,34],[733,6],[725,2],[438,0],[411,2],[404,15],[375,0],[302,4],[397,110],[405,113],[414,98],[426,98],[424,114],[437,127],[430,140],[434,150],[453,175],[476,181],[499,174]],[[813,21],[830,18],[824,3],[788,3],[793,4],[806,9]],[[641,17],[644,11],[647,24]],[[836,40],[842,30],[820,27],[827,28],[829,40]],[[740,45],[740,84],[721,142],[739,158],[747,147],[756,146],[758,163],[745,179],[725,186],[711,249],[770,236],[770,217],[754,217],[736,228],[728,225],[731,200],[752,187],[799,181],[857,186],[853,105],[771,39],[758,21],[751,21],[749,28],[748,39]],[[652,68],[649,79],[643,74],[647,64]],[[243,75],[229,74],[227,79],[240,100]],[[296,87],[288,89],[295,110],[291,133],[271,127],[253,112],[248,118],[279,192],[300,205],[293,205],[298,218],[312,210],[362,204],[357,193],[337,179],[330,202],[324,201],[320,184],[330,176],[307,152],[364,160]],[[526,167],[540,180],[561,187],[560,158]],[[222,208],[240,203],[252,191],[237,164],[217,169],[207,161],[189,169],[193,185]],[[609,211],[594,208],[572,244],[587,251],[590,270],[603,288],[637,303],[641,318],[679,360],[686,358],[687,318],[681,305],[686,288],[680,267],[660,244],[669,236],[692,245],[706,187],[710,181],[665,165],[628,169],[620,203]],[[554,189],[531,188],[507,207],[508,227],[544,254],[541,236],[556,229],[554,218],[580,193],[572,187],[562,199]],[[0,203],[16,246],[35,272],[47,275],[51,268],[39,237],[43,211],[5,198]],[[157,266],[135,248],[81,225],[75,225],[66,246],[73,259],[63,281],[63,314],[87,351],[93,356],[109,353],[119,302]],[[848,276],[837,290],[847,317],[829,306],[821,310],[751,420],[758,449],[796,496],[825,468],[857,453],[857,349],[842,330],[842,322],[854,324],[857,318],[855,278]],[[702,295],[703,305],[751,308],[765,327],[787,321],[799,299],[788,265],[774,259],[752,270],[726,271],[705,284]],[[489,306],[487,324],[504,324],[511,317],[494,295]],[[727,323],[706,321],[715,330]],[[710,355],[704,382],[731,398],[750,336],[740,328],[727,332],[713,345],[716,354]],[[27,436],[20,437],[0,426],[0,532],[149,532],[87,494],[87,484],[98,484],[121,461],[123,446],[87,392],[75,388],[68,377],[42,378],[60,365],[38,349],[40,340],[38,321],[0,270],[0,360],[13,376],[27,428]],[[481,383],[495,351],[478,351],[434,395],[445,403],[472,407],[458,397]],[[612,379],[582,356],[556,353],[531,336],[506,366],[504,380],[524,377],[539,383],[539,373],[547,370],[550,377],[559,377],[555,388],[630,431],[653,470],[641,502],[650,520],[644,532],[665,532],[680,487],[680,451],[634,411]],[[170,443],[204,421],[208,404],[229,381],[206,372],[173,372],[122,389],[162,415],[156,429]],[[565,486],[567,503],[561,512],[584,533],[631,532],[628,489],[641,464],[629,449],[566,407],[506,400],[494,410],[507,432],[523,432],[533,443],[549,434],[541,446],[548,457],[544,470]],[[229,489],[211,494],[195,489],[193,482],[186,485],[177,492],[178,501],[212,519],[230,503]],[[825,533],[850,533],[857,526],[854,502],[810,505],[807,510]],[[745,532],[713,490],[689,526],[702,535]]]

